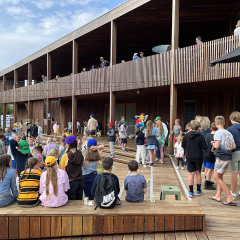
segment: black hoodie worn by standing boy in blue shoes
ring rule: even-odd
[[[182,141],[187,162],[203,161],[203,150],[207,148],[205,138],[200,132],[188,132]]]

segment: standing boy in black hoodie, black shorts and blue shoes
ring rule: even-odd
[[[184,148],[184,152],[186,154],[187,159],[187,170],[189,172],[188,184],[189,184],[189,197],[193,197],[193,184],[194,184],[194,176],[197,178],[197,193],[196,196],[202,195],[201,190],[201,167],[203,162],[203,149],[207,148],[207,143],[199,132],[200,123],[196,120],[192,120],[190,122],[190,127],[192,131],[188,132],[182,141],[182,147]]]

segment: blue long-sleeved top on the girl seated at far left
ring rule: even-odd
[[[0,180],[0,195],[13,195],[14,197],[18,196],[15,171],[13,169],[7,168],[6,176],[4,177],[3,181]]]

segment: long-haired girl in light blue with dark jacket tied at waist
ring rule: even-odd
[[[158,140],[159,131],[157,128],[153,127],[153,122],[149,120],[146,125],[146,129],[144,130],[145,138],[147,138],[147,149],[149,151],[149,167],[153,166],[153,158],[154,158],[154,150],[158,149]]]

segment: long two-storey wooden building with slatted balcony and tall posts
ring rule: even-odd
[[[209,63],[240,46],[232,35],[238,19],[239,0],[129,0],[1,71],[4,115],[6,104],[14,104],[15,121],[40,119],[43,125],[51,116],[62,129],[91,113],[104,128],[122,114],[133,125],[141,112],[171,123],[179,117],[182,125],[195,115],[228,118],[240,110],[240,64]],[[204,41],[198,46],[197,36]],[[172,50],[154,54],[161,44]],[[140,51],[146,57],[131,61]],[[110,67],[98,69],[101,56]],[[81,73],[92,65],[94,71]],[[48,133],[50,126],[47,121]]]

